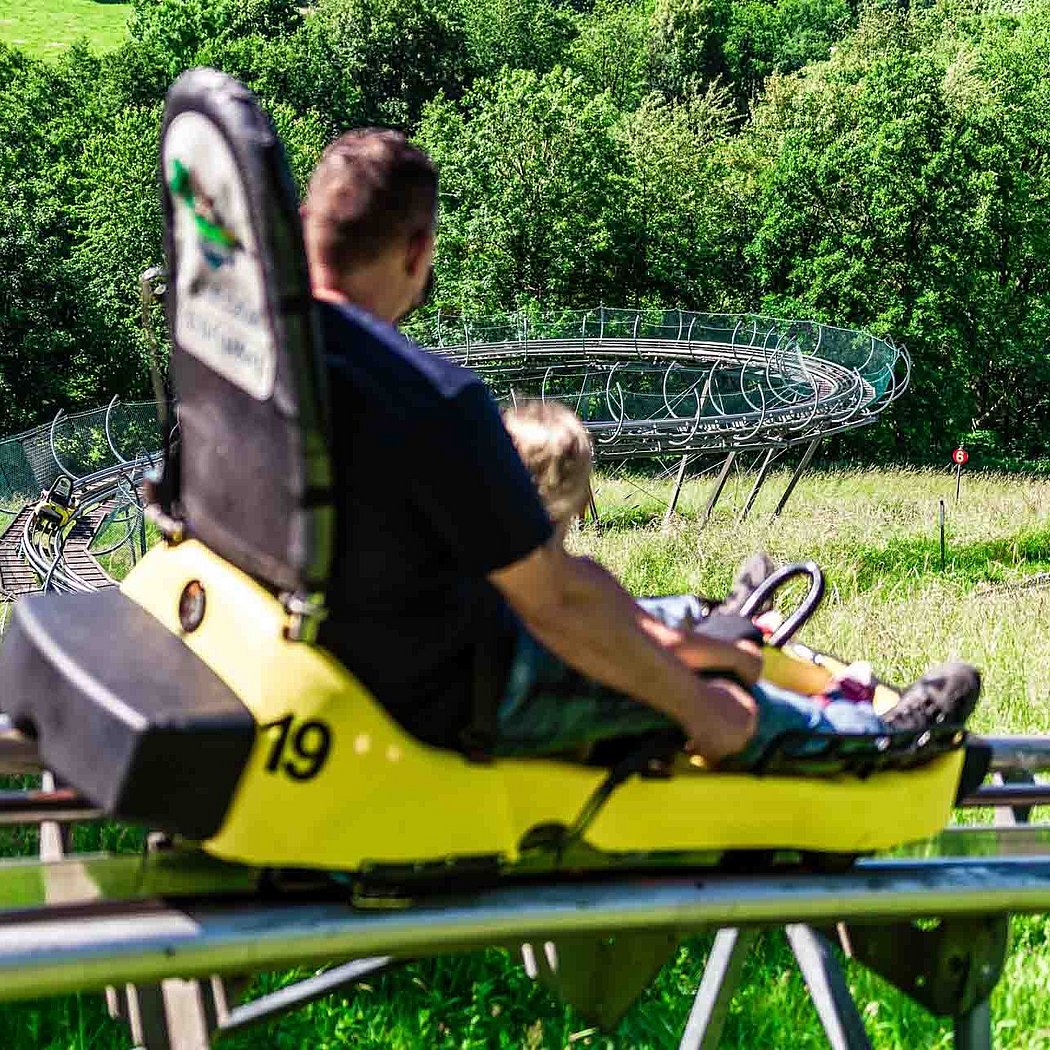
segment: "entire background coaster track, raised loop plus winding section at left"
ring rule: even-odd
[[[910,377],[907,353],[887,340],[756,315],[604,307],[482,320],[439,313],[413,334],[477,371],[500,400],[567,403],[605,460],[675,457],[688,465],[705,454],[760,450],[766,455],[760,480],[770,458],[784,449],[810,445],[804,465],[821,438],[872,423]],[[129,413],[123,448],[114,440],[118,407]],[[42,529],[36,502],[24,502],[29,486],[9,481],[0,462],[7,501],[21,495],[18,509],[0,508],[12,519],[0,532],[0,598],[41,586],[68,591],[113,583],[96,555],[143,545],[136,486],[154,461],[146,446],[160,444],[154,426],[143,425],[150,408],[113,398],[105,410],[60,412],[49,426],[3,442],[20,446],[22,474],[32,467],[38,486],[69,478],[76,510],[58,532]],[[102,461],[107,465],[94,468]],[[108,537],[92,552],[107,522],[119,539]]]

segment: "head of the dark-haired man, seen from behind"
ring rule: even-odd
[[[399,131],[340,135],[317,163],[302,206],[314,293],[399,320],[429,284],[437,205],[434,163]]]

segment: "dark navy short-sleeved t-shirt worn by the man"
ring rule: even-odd
[[[457,747],[474,648],[513,630],[485,576],[551,525],[472,372],[354,307],[318,308],[337,521],[320,642],[406,730]]]

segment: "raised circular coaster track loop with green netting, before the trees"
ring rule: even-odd
[[[752,315],[439,315],[416,334],[500,400],[566,402],[606,459],[810,443],[874,422],[910,377],[906,351],[886,340]]]

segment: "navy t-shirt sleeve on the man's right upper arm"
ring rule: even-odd
[[[485,575],[550,539],[547,511],[480,382],[446,401],[422,437],[415,497],[465,570]]]

